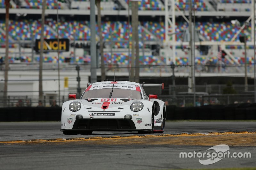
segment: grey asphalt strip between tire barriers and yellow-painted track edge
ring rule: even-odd
[[[138,135],[137,132],[93,132],[92,135],[63,135],[60,122],[0,122],[0,141],[67,137]],[[256,131],[256,122],[166,122],[164,134]]]

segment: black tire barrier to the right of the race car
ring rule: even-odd
[[[206,105],[200,107],[166,106],[167,120],[255,120],[256,103]]]

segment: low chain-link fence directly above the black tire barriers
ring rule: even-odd
[[[156,91],[155,91],[156,92]],[[154,92],[154,93],[155,93]],[[157,92],[156,92],[157,93]],[[248,94],[214,94],[206,95],[207,93],[196,92],[195,104],[197,107],[205,105],[229,105],[240,103],[254,102],[254,93]],[[175,105],[177,107],[191,107],[194,106],[193,93],[182,95],[158,95],[158,99],[163,100],[167,105]],[[68,101],[68,96],[44,96],[42,100],[39,96],[8,96],[7,100],[0,98],[0,107],[37,107],[39,101],[42,102],[43,107],[51,107],[53,101],[60,107],[65,101]]]

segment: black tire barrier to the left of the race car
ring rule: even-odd
[[[60,121],[61,107],[0,108],[0,122]]]

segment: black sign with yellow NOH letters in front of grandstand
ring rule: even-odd
[[[41,42],[40,39],[36,39],[36,52],[40,52]],[[69,51],[69,40],[59,39],[60,51]],[[45,39],[44,40],[44,51],[58,51],[58,39]]]

